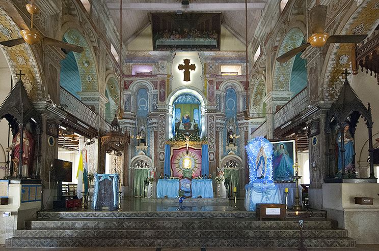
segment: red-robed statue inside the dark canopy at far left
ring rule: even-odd
[[[32,172],[30,168],[32,167],[33,163],[33,146],[34,146],[34,140],[32,138],[32,134],[29,132],[28,129],[23,129],[23,154],[22,154],[22,176],[29,176],[29,174]],[[10,174],[12,176],[17,176],[18,174],[18,167],[19,167],[19,158],[20,158],[20,132],[17,133],[16,137],[13,139],[13,143],[6,149],[6,151],[13,151],[13,174]]]

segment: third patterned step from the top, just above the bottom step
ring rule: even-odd
[[[300,238],[299,229],[291,230],[274,230],[274,229],[261,229],[261,230],[202,230],[202,229],[112,229],[112,230],[99,230],[99,229],[39,229],[39,230],[16,230],[15,237],[24,238],[94,238],[94,239],[204,239],[204,238]],[[342,229],[329,229],[329,230],[303,230],[303,237],[309,238],[343,238],[347,237],[347,230]]]

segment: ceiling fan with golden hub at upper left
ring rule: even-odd
[[[37,32],[36,29],[33,28],[33,14],[37,14],[39,12],[39,8],[36,5],[34,5],[32,1],[32,4],[26,5],[26,10],[28,10],[28,12],[32,14],[31,28],[29,29],[28,25],[26,25],[25,22],[21,18],[17,18],[18,13],[15,9],[9,10],[10,12],[9,14],[12,14],[13,12],[14,15],[12,15],[12,17],[16,18],[18,21],[18,24],[23,28],[20,32],[22,38],[16,38],[16,39],[8,40],[8,41],[3,41],[3,42],[0,42],[1,45],[12,47],[12,46],[19,45],[25,42],[31,45],[39,44],[42,42],[47,45],[62,48],[63,52],[65,52],[66,54],[69,51],[75,51],[77,53],[83,52],[83,47],[69,44],[69,43],[52,39],[52,38],[43,37],[39,32]]]

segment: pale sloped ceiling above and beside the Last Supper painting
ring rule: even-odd
[[[120,0],[104,0],[111,17],[120,30]],[[245,1],[241,0],[190,0],[190,5],[182,6],[178,0],[123,0],[122,40],[131,42],[150,24],[151,12],[218,12],[221,23],[241,42],[245,43]],[[251,41],[258,25],[261,11],[268,0],[248,0],[248,41]],[[278,7],[279,8],[279,7]]]

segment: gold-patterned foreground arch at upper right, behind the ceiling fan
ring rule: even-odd
[[[339,22],[335,35],[367,34],[370,37],[378,24],[377,1],[366,0],[358,8],[356,5],[352,5],[345,18]],[[338,98],[344,81],[341,73],[345,69],[351,69],[351,44],[331,44],[326,60],[328,60],[328,64],[324,64],[321,73],[323,76],[323,99],[333,102]],[[352,78],[352,74],[347,76],[349,82]]]

